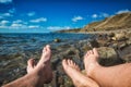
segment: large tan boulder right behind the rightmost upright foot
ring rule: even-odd
[[[114,48],[100,47],[97,50],[99,53],[98,62],[102,65],[109,66],[123,62],[121,59],[119,59],[118,53],[115,51]]]

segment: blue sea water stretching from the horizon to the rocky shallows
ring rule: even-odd
[[[90,39],[88,34],[0,34],[0,55],[15,53],[17,51],[38,50],[45,45],[59,46],[73,44],[79,40]],[[60,39],[60,42],[55,42]]]

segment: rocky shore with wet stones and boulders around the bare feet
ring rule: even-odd
[[[83,71],[83,55],[93,48],[98,49],[100,54],[98,62],[104,66],[131,62],[131,30],[98,33],[94,34],[94,37],[90,40],[85,39],[72,44],[51,46],[53,79],[45,87],[74,87],[71,79],[63,72],[61,61],[63,59],[72,59]],[[39,60],[41,49],[43,47],[39,50],[26,51],[23,54],[17,52],[15,54],[1,55],[0,86],[25,75],[26,61],[29,58]]]

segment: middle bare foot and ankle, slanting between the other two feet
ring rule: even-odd
[[[98,87],[96,82],[81,73],[80,67],[73,61],[63,60],[62,66],[75,87]]]

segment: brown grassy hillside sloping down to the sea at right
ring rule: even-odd
[[[59,33],[85,33],[99,30],[118,30],[126,28],[131,28],[131,12],[116,14],[110,17],[106,17],[103,21],[93,22],[81,29],[63,29],[59,30]]]

